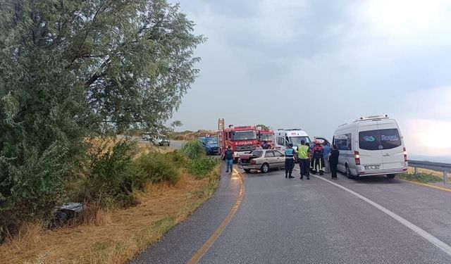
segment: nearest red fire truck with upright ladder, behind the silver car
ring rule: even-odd
[[[219,118],[218,145],[221,156],[224,156],[227,146],[231,146],[235,155],[233,161],[237,163],[240,154],[253,151],[259,145],[257,129],[250,125],[240,127],[228,125],[228,127],[225,127],[224,118]]]

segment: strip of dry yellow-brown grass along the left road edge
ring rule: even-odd
[[[89,224],[58,230],[27,225],[0,246],[1,263],[124,263],[190,215],[217,185],[183,175],[175,186],[149,184],[136,194],[138,206],[100,211]]]

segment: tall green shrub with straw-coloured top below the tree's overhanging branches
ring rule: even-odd
[[[132,189],[139,179],[132,161],[136,153],[136,143],[126,140],[94,144],[85,162],[80,199],[100,207],[134,204]]]

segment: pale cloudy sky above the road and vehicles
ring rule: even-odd
[[[451,0],[178,3],[207,38],[178,130],[225,118],[331,138],[388,114],[411,158],[451,163]]]

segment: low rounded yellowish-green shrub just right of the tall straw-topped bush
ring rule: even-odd
[[[175,154],[174,159],[180,158]],[[135,160],[135,170],[139,175],[137,178],[142,185],[144,182],[167,181],[176,184],[180,180],[179,165],[175,164],[167,154],[158,152],[145,153]]]

